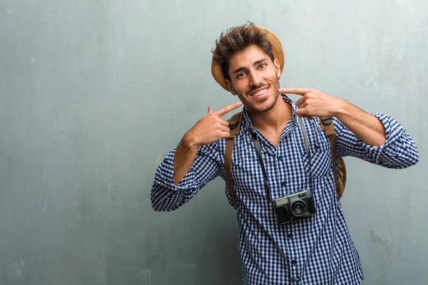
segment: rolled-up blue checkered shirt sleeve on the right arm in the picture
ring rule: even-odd
[[[367,160],[383,167],[403,169],[419,161],[417,146],[397,120],[387,114],[374,113],[384,125],[384,145],[372,146],[362,142],[356,135],[333,118],[337,136],[337,155],[347,155]]]

